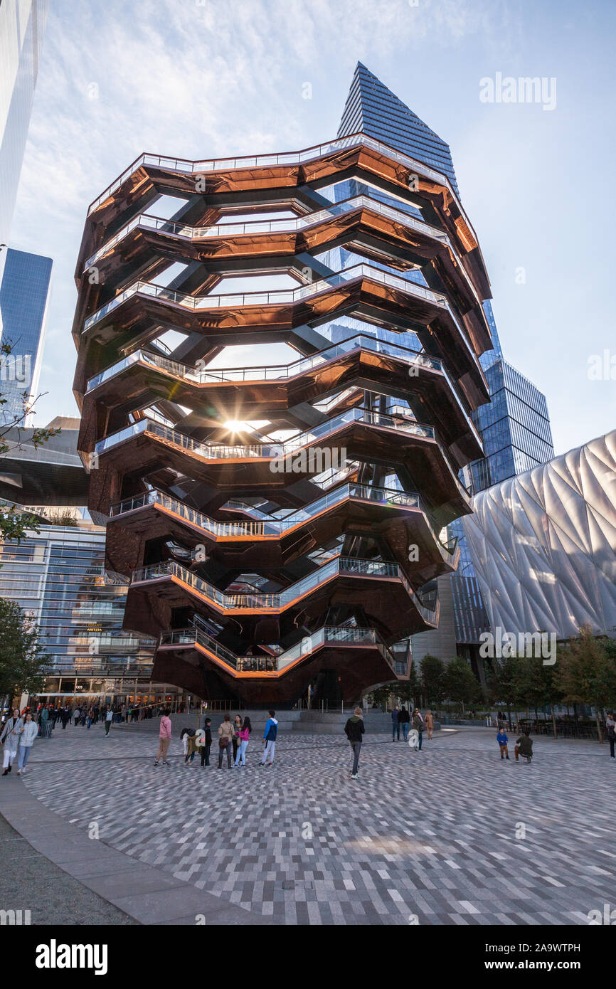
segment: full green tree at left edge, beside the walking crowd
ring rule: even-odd
[[[39,626],[16,601],[0,597],[0,697],[38,693],[45,668]]]

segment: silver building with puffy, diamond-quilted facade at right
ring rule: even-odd
[[[616,630],[616,430],[474,498],[464,529],[489,626]]]

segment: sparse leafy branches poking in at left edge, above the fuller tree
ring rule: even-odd
[[[14,349],[15,345],[11,340],[5,338],[0,341],[0,383],[2,380],[6,380],[7,378],[13,380],[15,377],[16,358],[13,353]],[[4,405],[7,404],[8,399],[4,398],[0,391],[0,418],[2,420],[0,421],[0,460],[7,453],[23,449],[22,430],[25,427],[26,419],[29,415],[33,414],[34,406],[39,399],[43,398],[43,394],[32,399],[29,393],[25,391],[22,395],[22,408],[20,412],[7,420]],[[9,438],[10,431],[13,432]],[[29,446],[34,446],[35,450],[38,450],[48,439],[52,436],[57,436],[59,432],[59,429],[35,428],[32,436],[28,438],[28,444]],[[16,540],[19,543],[24,538],[28,529],[34,529],[35,532],[39,531],[37,521],[36,515],[23,512],[15,504],[8,508],[0,507],[0,539]]]

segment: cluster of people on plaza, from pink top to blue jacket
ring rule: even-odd
[[[160,718],[160,729],[158,734],[158,752],[154,759],[154,765],[169,765],[167,754],[171,744],[171,718],[170,711],[163,711]],[[259,765],[272,766],[276,752],[276,739],[278,737],[278,721],[276,711],[268,711],[268,720],[263,734],[263,756]],[[226,755],[227,768],[240,768],[246,764],[246,750],[252,734],[250,718],[246,715],[242,718],[236,714],[231,721],[230,714],[225,714],[219,725],[219,769],[222,768],[222,759]],[[192,728],[183,728],[180,740],[184,751],[184,765],[191,764],[195,756],[201,752],[202,766],[210,765],[210,753],[212,750],[212,718],[206,718],[204,727],[195,731]],[[232,754],[232,755],[231,755]]]

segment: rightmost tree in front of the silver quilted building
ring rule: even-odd
[[[603,741],[599,711],[616,700],[616,650],[593,636],[589,625],[561,651],[555,674],[567,703],[594,707],[597,735]]]

